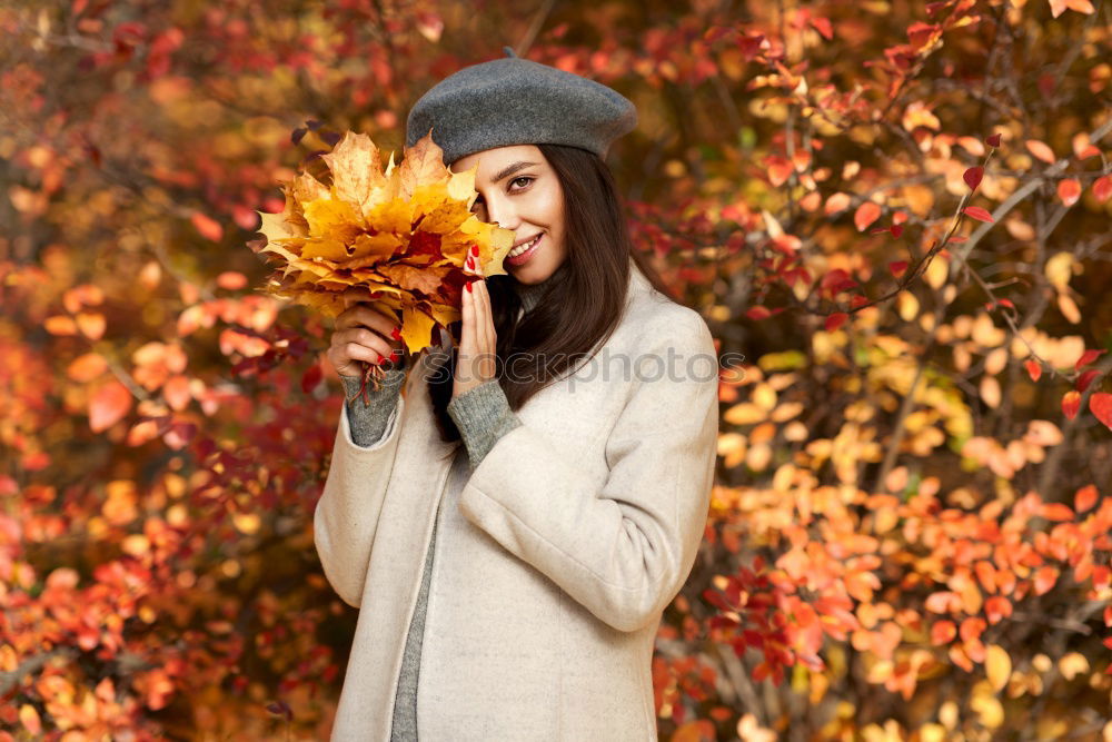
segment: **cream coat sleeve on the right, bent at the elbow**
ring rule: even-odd
[[[460,494],[468,521],[618,631],[658,620],[679,592],[711,502],[717,356],[699,315],[672,317],[642,347],[664,359],[671,348],[681,368],[635,377],[605,444],[602,488],[526,423],[498,439]],[[702,360],[688,364],[694,355]]]

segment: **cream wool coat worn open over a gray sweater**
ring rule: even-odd
[[[459,492],[448,473],[466,453],[437,434],[427,355],[378,443],[356,445],[341,410],[314,515],[325,575],[359,609],[332,742],[390,738],[434,517],[420,740],[657,739],[654,640],[706,523],[717,360],[698,313],[632,261],[624,318],[598,352],[517,410],[522,426],[478,468],[464,463]]]

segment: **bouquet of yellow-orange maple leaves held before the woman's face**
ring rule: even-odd
[[[474,276],[505,275],[514,233],[471,214],[475,172],[451,172],[431,132],[394,154],[385,172],[378,148],[348,131],[322,155],[331,182],[308,172],[284,184],[281,214],[259,211],[267,238],[257,253],[278,265],[262,290],[336,318],[345,297],[369,300],[401,325],[405,350],[420,353],[438,326],[463,316],[463,288]],[[478,271],[467,255],[478,248]],[[457,338],[458,339],[458,338]],[[379,366],[364,363],[359,393],[378,388]]]

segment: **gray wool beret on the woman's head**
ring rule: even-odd
[[[445,165],[509,145],[568,145],[606,157],[637,126],[633,102],[607,86],[514,56],[465,67],[417,99],[406,147],[433,130]]]

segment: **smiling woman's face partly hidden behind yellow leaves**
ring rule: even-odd
[[[473,210],[514,233],[514,245],[503,267],[522,284],[539,284],[567,257],[564,244],[564,189],[556,171],[536,145],[514,145],[485,149],[451,164],[453,172],[468,170],[478,162],[475,174]],[[540,240],[524,254],[515,251]]]

